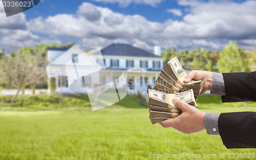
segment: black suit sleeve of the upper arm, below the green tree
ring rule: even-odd
[[[256,102],[256,72],[223,73],[226,96],[222,102]]]

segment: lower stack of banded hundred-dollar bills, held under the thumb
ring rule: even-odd
[[[152,124],[178,117],[181,114],[182,110],[173,104],[173,98],[197,107],[193,89],[177,94],[166,94],[148,89],[148,105]]]

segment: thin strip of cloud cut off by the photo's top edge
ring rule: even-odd
[[[156,7],[158,4],[160,4],[163,0],[91,0],[94,2],[104,2],[104,3],[118,3],[122,7],[129,6],[131,3],[135,4],[145,4],[150,5],[153,7]]]

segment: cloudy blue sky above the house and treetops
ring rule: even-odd
[[[215,51],[229,41],[256,50],[256,1],[41,0],[9,17],[0,2],[0,47],[7,52],[67,42],[83,50],[128,43],[150,52],[155,45],[162,52]]]

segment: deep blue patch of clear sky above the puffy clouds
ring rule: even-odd
[[[55,14],[74,14],[82,4],[82,2],[89,2],[99,7],[107,7],[114,12],[122,13],[125,15],[139,14],[144,16],[146,19],[151,21],[164,22],[169,18],[181,20],[182,16],[176,16],[172,13],[166,12],[167,9],[177,8],[186,13],[185,9],[188,7],[179,6],[177,1],[163,1],[162,3],[156,3],[156,5],[146,5],[130,3],[129,5],[123,6],[120,3],[104,3],[95,1],[60,1],[60,0],[45,0],[36,6],[36,8],[28,10],[25,14],[28,18],[35,18],[37,16],[47,17]],[[49,7],[50,6],[50,7]],[[47,10],[47,12],[46,12]]]

